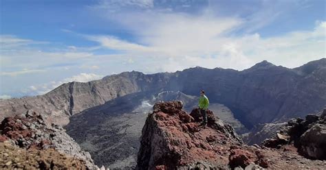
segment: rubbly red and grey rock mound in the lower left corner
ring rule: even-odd
[[[26,114],[21,114],[20,116],[3,119],[0,124],[0,132],[0,142],[7,142],[7,144],[1,146],[11,150],[10,152],[1,151],[5,151],[6,153],[3,154],[7,156],[10,154],[12,157],[12,160],[6,158],[7,162],[1,159],[1,161],[5,162],[0,162],[0,167],[17,168],[23,166],[21,167],[23,169],[33,169],[33,167],[38,169],[50,169],[50,167],[69,169],[70,167],[75,167],[77,169],[98,169],[94,165],[90,154],[81,150],[74,139],[65,133],[63,127],[48,124],[41,114],[32,110],[28,110]],[[23,155],[19,156],[17,153],[14,153],[14,151],[19,150],[17,148],[21,148],[20,151],[22,151],[21,154]],[[36,157],[30,157],[30,154],[35,154]],[[20,160],[14,159],[14,157]],[[21,162],[21,159],[28,159],[31,162],[27,164]],[[43,163],[37,163],[40,161]]]

